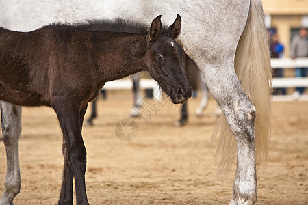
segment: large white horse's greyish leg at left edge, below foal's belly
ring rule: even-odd
[[[6,151],[7,170],[0,204],[13,204],[21,189],[18,141],[21,136],[21,106],[1,101],[3,143]]]

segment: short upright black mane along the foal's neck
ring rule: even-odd
[[[82,23],[53,23],[44,27],[53,26],[75,27],[86,31],[108,31],[113,33],[148,33],[150,25],[146,23],[136,22],[134,20],[125,20],[123,18],[115,18],[114,20],[91,19]],[[162,26],[162,33],[169,33],[167,26]]]

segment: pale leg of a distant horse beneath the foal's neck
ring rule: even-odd
[[[140,116],[140,107],[142,106],[142,95],[140,91],[140,73],[131,74],[133,81],[133,109],[131,109],[131,117],[136,118]]]

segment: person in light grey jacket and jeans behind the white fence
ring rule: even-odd
[[[291,44],[291,58],[308,57],[308,42],[307,42],[307,29],[300,28],[298,35],[292,38]],[[306,77],[308,68],[295,68],[295,77]],[[298,100],[303,94],[305,87],[296,87],[293,94],[294,99]]]

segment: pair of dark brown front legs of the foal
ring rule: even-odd
[[[62,103],[61,103],[62,102]],[[73,204],[73,178],[75,178],[77,204],[89,204],[86,195],[86,148],[81,136],[86,107],[70,105],[70,100],[57,101],[54,106],[64,137],[64,169],[59,204]]]

